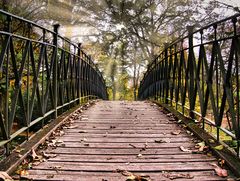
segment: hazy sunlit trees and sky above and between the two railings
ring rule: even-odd
[[[3,2],[6,3],[2,7],[14,14],[42,24],[59,22],[69,38],[81,39],[83,47],[99,60],[113,98],[119,98],[119,93],[122,98],[136,97],[140,72],[159,54],[163,44],[182,36],[186,25],[200,27],[218,19],[224,14],[219,7],[226,7],[216,0],[210,3],[202,0]],[[75,26],[79,32],[71,37]],[[93,46],[101,53],[92,51]]]

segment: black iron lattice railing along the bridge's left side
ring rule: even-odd
[[[107,92],[91,57],[60,36],[59,25],[50,31],[2,10],[0,21],[0,150],[8,154],[33,125]]]

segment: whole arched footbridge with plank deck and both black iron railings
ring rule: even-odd
[[[239,179],[240,14],[166,44],[134,102],[107,101],[98,67],[59,25],[0,14],[0,178]]]

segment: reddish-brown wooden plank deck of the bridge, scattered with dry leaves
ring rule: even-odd
[[[132,172],[156,181],[226,179],[215,174],[216,158],[182,151],[195,138],[150,103],[97,102],[63,131],[46,150],[57,156],[33,164],[28,178],[116,181]]]

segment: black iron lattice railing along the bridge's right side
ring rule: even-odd
[[[166,44],[140,83],[138,98],[168,104],[217,140],[240,145],[240,14]]]

